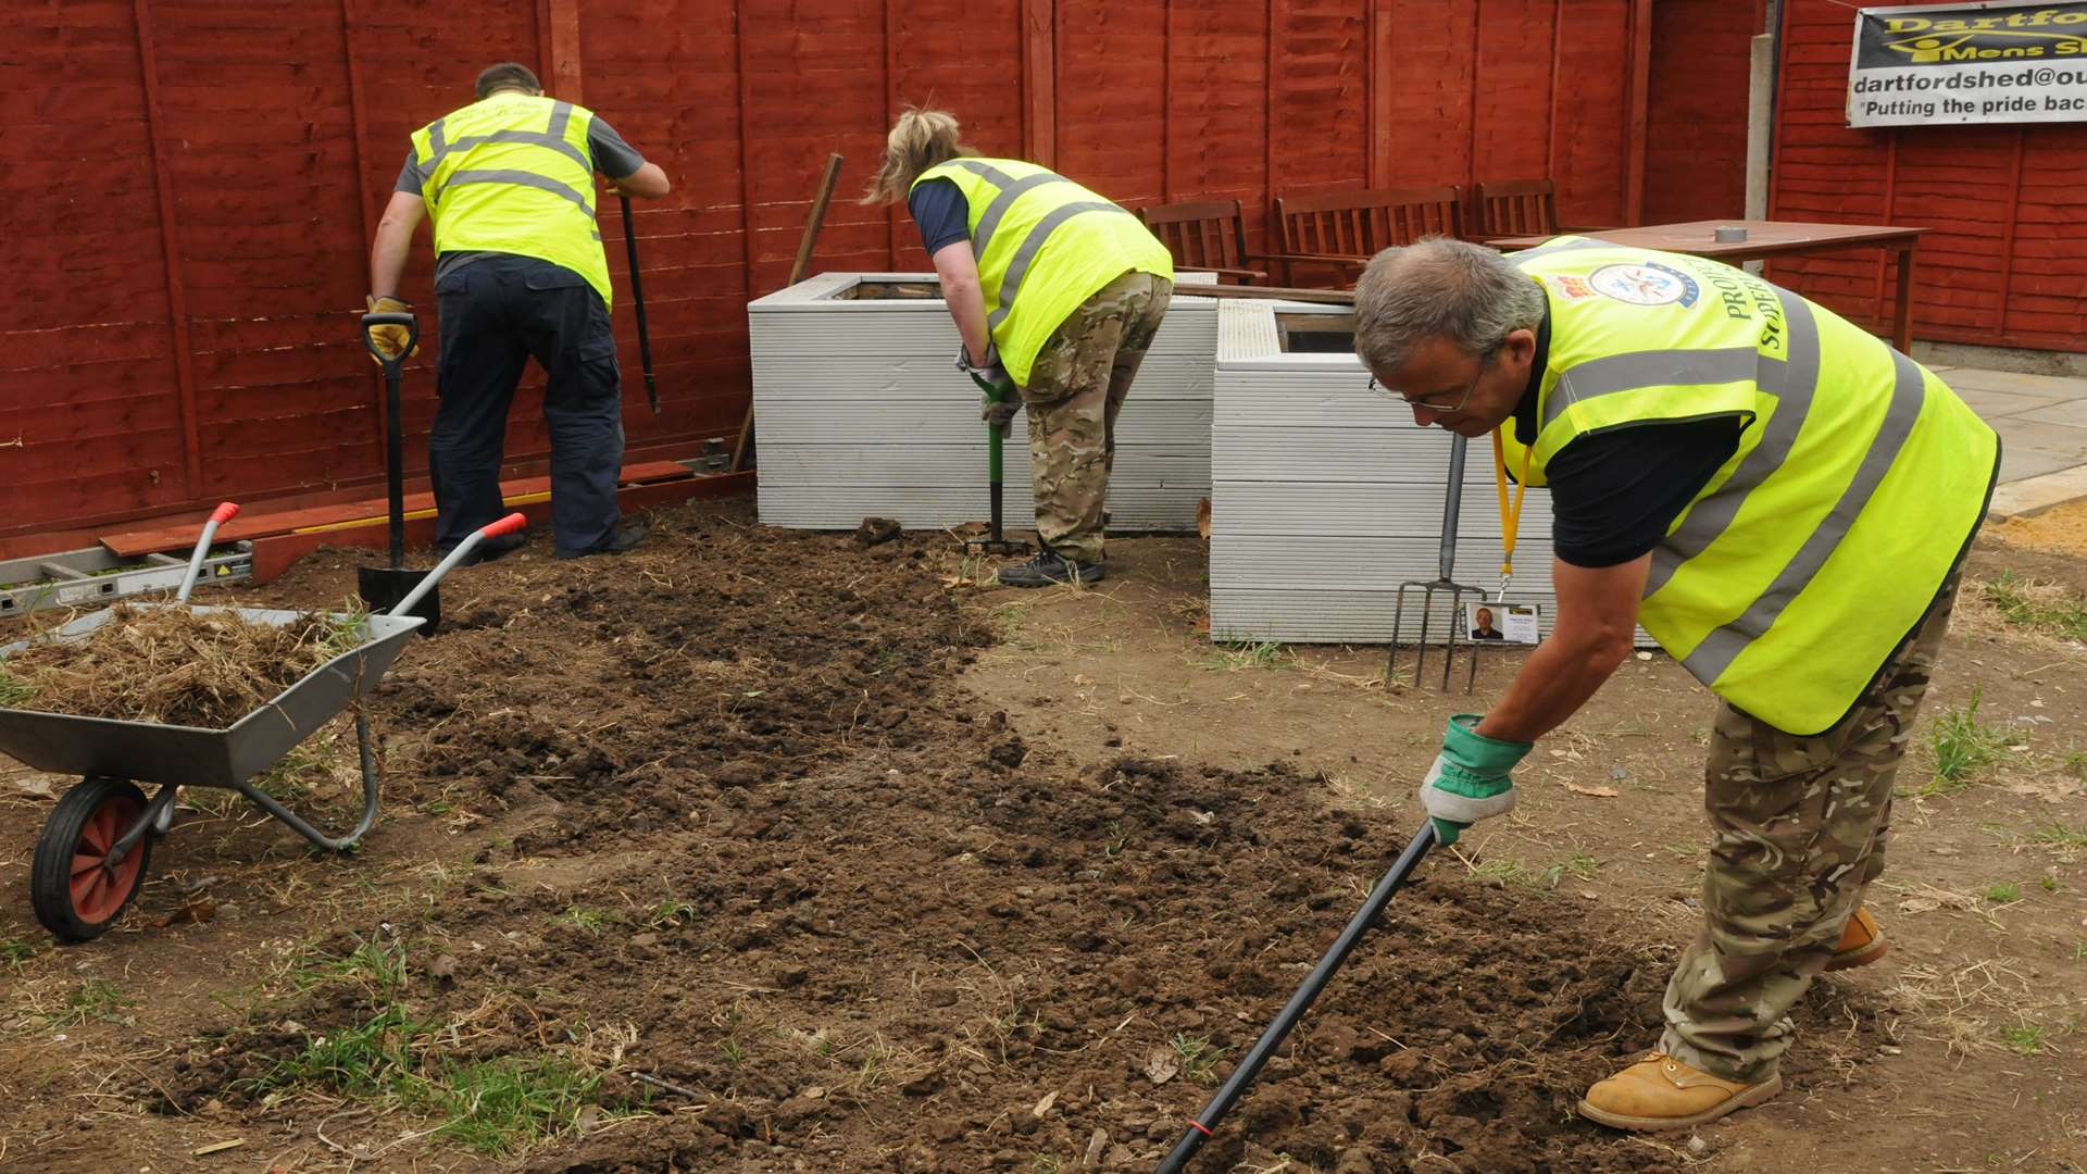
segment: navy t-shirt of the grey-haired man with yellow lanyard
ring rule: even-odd
[[[1551,318],[1536,332],[1515,441],[1536,443],[1536,389],[1551,359]],[[1551,547],[1574,566],[1620,566],[1651,554],[1718,468],[1738,451],[1741,420],[1649,422],[1574,439],[1544,474]],[[1513,470],[1509,470],[1513,472]]]

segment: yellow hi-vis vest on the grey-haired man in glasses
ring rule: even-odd
[[[1574,236],[1511,259],[1551,301],[1530,483],[1590,432],[1741,420],[1738,451],[1653,549],[1638,623],[1768,725],[1839,725],[1985,516],[1993,428],[1914,359],[1743,269]],[[1501,430],[1519,472],[1513,420]]]

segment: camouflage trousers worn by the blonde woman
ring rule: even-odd
[[[1023,389],[1035,472],[1037,541],[1102,560],[1102,503],[1117,464],[1117,414],[1167,318],[1173,282],[1123,274],[1058,324]]]

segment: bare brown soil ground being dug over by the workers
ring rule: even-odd
[[[119,930],[56,948],[25,886],[69,779],[0,765],[0,1170],[1150,1170],[1515,660],[1465,698],[1386,691],[1382,650],[1213,650],[1196,539],[1016,593],[943,535],[743,506],[653,535],[445,585],[374,700],[388,811],[353,856],[192,794]],[[1972,572],[2062,593],[2081,564],[2045,558]],[[255,600],[336,602],[357,560]],[[1807,996],[1778,1101],[1695,1138],[1572,1113],[1657,1038],[1699,917],[1711,704],[1649,658],[1421,865],[1196,1170],[2087,1170],[2087,842],[2054,831],[2087,829],[2083,662],[1966,608],[1928,721],[1976,689],[1999,758],[1924,788],[1922,725],[1893,953]],[[301,802],[340,823],[344,792]],[[307,1063],[384,1022],[417,1078],[553,1063],[584,1103],[488,1153],[453,1103]]]

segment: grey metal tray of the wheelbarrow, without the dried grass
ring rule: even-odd
[[[131,604],[131,608],[186,604]],[[265,608],[196,608],[236,612],[250,623],[290,625],[307,612]],[[100,629],[113,610],[79,616],[40,639],[73,641]],[[63,712],[0,708],[0,754],[52,775],[106,775],[182,788],[238,788],[282,760],[298,742],[349,708],[384,677],[392,660],[426,620],[419,616],[363,616],[363,643],[313,668],[275,700],[227,729],[159,725]],[[0,648],[0,660],[29,641]]]

